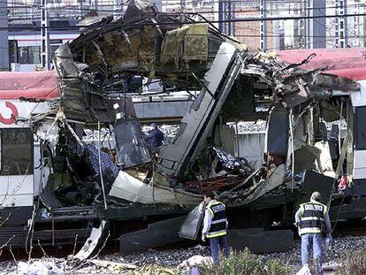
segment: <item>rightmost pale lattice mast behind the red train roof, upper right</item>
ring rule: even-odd
[[[336,0],[336,15],[347,14],[347,0]],[[337,48],[345,48],[348,43],[347,39],[347,18],[335,18],[335,45]]]

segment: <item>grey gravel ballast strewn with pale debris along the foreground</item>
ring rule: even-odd
[[[342,256],[345,256],[347,252],[354,251],[359,248],[366,247],[366,236],[357,237],[339,237],[334,238],[332,242],[332,247],[329,251],[324,254],[324,265],[339,263]],[[141,268],[144,266],[160,266],[163,268],[175,268],[181,264],[184,260],[187,260],[191,256],[201,255],[209,256],[210,249],[208,246],[197,245],[193,248],[179,248],[179,249],[164,249],[156,250],[149,249],[148,251],[141,253],[133,253],[128,255],[120,255],[114,253],[111,255],[99,256],[98,260],[102,260],[105,263],[116,263],[116,264],[129,264],[135,266],[136,268]],[[271,253],[259,255],[262,257],[263,261],[269,259],[277,259],[284,264],[290,264],[294,267],[294,270],[300,269],[301,267],[301,243],[300,241],[295,241],[294,246],[286,251],[280,253]],[[65,274],[65,271],[71,272],[72,274],[128,274],[131,271],[117,271],[111,270],[111,266],[108,268],[100,264],[94,264],[91,262],[85,262],[80,266],[80,263],[75,264],[75,261],[68,260],[66,258],[44,258],[34,259],[34,263],[42,262],[46,263],[45,266],[53,266],[53,272],[29,272],[28,274],[41,275],[41,274]],[[104,263],[103,262],[103,263]],[[19,261],[19,263],[27,264],[26,261]],[[47,265],[48,264],[48,265]],[[20,264],[21,265],[21,264]],[[129,266],[128,265],[128,266]],[[76,268],[77,267],[77,268]],[[116,267],[114,267],[116,269]],[[74,271],[72,271],[74,269]],[[21,271],[24,270],[19,268],[19,264],[15,264],[14,261],[4,261],[0,263],[0,274],[24,274]]]

